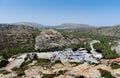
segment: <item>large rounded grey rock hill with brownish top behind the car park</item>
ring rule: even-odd
[[[63,47],[70,44],[70,41],[66,40],[61,33],[53,29],[42,31],[35,40],[35,50],[53,47]]]

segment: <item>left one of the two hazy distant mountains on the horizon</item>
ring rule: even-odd
[[[34,22],[17,22],[17,23],[13,23],[15,25],[26,25],[26,26],[32,26],[32,27],[36,27],[36,28],[45,28],[45,25],[39,24],[39,23],[34,23]]]

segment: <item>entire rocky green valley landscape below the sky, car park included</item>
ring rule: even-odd
[[[1,78],[119,78],[116,26],[63,24],[61,29],[29,24],[0,24]],[[113,32],[108,35],[108,30]]]

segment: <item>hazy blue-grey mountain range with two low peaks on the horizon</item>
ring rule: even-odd
[[[14,25],[26,25],[26,26],[32,26],[36,28],[55,28],[55,29],[77,29],[77,28],[91,28],[93,26],[90,26],[88,24],[77,24],[77,23],[64,23],[57,26],[46,26],[39,23],[33,23],[33,22],[17,22],[13,23]]]

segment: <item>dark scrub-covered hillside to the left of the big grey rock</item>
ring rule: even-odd
[[[25,25],[0,24],[0,52],[33,48],[38,31]]]

